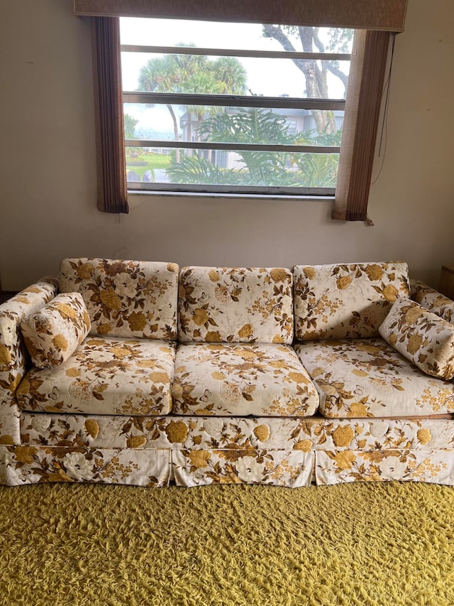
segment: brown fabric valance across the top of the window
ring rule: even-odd
[[[249,21],[403,31],[406,0],[74,0],[89,16]]]

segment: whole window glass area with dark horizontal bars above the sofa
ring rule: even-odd
[[[353,30],[120,28],[129,190],[334,195]]]

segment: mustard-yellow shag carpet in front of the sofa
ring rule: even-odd
[[[0,603],[454,605],[454,489],[0,487]]]

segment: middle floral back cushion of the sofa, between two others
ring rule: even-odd
[[[282,268],[184,267],[181,342],[291,343],[292,273]]]

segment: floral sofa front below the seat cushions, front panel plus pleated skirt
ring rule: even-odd
[[[119,417],[21,413],[0,483],[191,487],[409,480],[454,485],[451,418]]]

